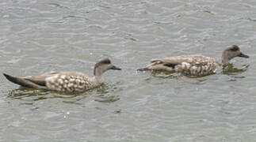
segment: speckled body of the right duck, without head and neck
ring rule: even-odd
[[[221,64],[214,58],[203,55],[181,55],[170,58],[155,59],[143,70],[167,71],[170,73],[182,73],[189,76],[206,76],[216,73]]]

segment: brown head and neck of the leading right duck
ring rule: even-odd
[[[249,58],[248,55],[243,54],[240,51],[240,48],[237,45],[231,45],[228,46],[223,52],[222,52],[222,64],[227,65],[227,63],[235,57],[242,57],[242,58]]]

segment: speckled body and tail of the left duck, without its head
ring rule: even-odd
[[[103,83],[78,72],[49,72],[29,77],[12,77],[4,74],[13,83],[27,88],[46,89],[60,92],[83,92]]]

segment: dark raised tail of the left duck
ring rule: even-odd
[[[44,89],[43,86],[40,86],[38,84],[35,84],[29,80],[26,80],[25,78],[21,78],[21,77],[13,77],[10,76],[9,74],[3,73],[3,75],[6,77],[7,80],[10,80],[11,82],[13,82],[14,84],[19,84],[25,88],[40,88],[40,89]]]

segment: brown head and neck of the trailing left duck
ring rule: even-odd
[[[94,65],[94,76],[99,77],[109,69],[121,70],[117,66],[112,65],[109,58],[102,58]]]

